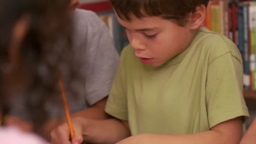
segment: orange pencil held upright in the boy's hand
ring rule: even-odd
[[[59,82],[60,82],[60,88],[61,88],[61,93],[62,93],[62,99],[63,99],[63,103],[64,103],[64,106],[65,106],[67,123],[68,123],[69,131],[70,131],[71,139],[73,139],[74,138],[74,129],[73,129],[73,126],[72,126],[71,117],[70,117],[70,113],[69,113],[69,109],[68,109],[67,98],[66,98],[66,94],[65,94],[65,91],[64,91],[63,82],[62,82],[61,78],[60,78]]]

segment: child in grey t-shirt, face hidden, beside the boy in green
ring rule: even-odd
[[[72,51],[69,52],[69,56],[73,56],[73,60],[80,63],[79,66],[75,64],[71,68],[79,73],[81,82],[75,86],[75,94],[65,89],[69,111],[72,117],[106,119],[108,116],[104,112],[104,107],[118,67],[119,55],[105,23],[93,11],[77,9],[78,4],[78,0],[72,0],[67,9],[73,26]],[[65,40],[60,39],[56,48],[63,49],[65,44]],[[71,87],[72,83],[68,82],[69,77],[62,78],[64,87]],[[16,104],[20,104],[20,101]],[[52,112],[43,127],[43,133],[44,137],[50,140],[51,130],[66,122],[66,117],[63,107],[62,109],[57,109],[54,105],[48,107]],[[18,125],[28,131],[32,128],[26,115],[22,115],[19,109],[11,111],[7,123]]]

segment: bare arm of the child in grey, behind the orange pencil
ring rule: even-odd
[[[92,105],[88,109],[78,111],[71,116],[72,117],[83,117],[83,118],[89,118],[89,119],[107,119],[107,118],[109,118],[109,116],[104,111],[106,102],[107,102],[107,97],[98,101],[96,104]],[[55,118],[55,119],[51,119],[50,121],[48,121],[44,126],[45,139],[50,140],[51,131],[64,122],[66,122],[66,117]]]

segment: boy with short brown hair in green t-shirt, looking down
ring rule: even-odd
[[[242,59],[228,38],[200,28],[208,1],[110,3],[130,41],[106,105],[114,118],[73,119],[72,142],[239,143],[248,117]],[[68,135],[62,125],[52,140]]]

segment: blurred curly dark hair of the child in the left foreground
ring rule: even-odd
[[[14,101],[22,99],[24,113],[37,133],[49,117],[48,105],[62,106],[61,75],[72,85],[66,90],[76,94],[79,75],[71,54],[69,4],[69,0],[0,1],[0,113],[8,115]],[[22,16],[29,17],[28,29],[16,57],[18,64],[11,65],[13,28]]]

